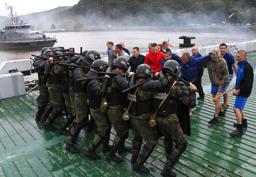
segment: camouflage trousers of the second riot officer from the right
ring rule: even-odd
[[[148,125],[148,117],[150,114],[142,114],[141,117],[144,116],[144,119],[136,119],[131,115],[130,122],[132,125],[132,133],[134,135],[134,139],[132,140],[132,154],[138,155],[137,163],[144,164],[150,154],[153,152],[155,146],[158,143],[158,137],[155,132],[155,128],[152,128]],[[146,144],[141,148],[142,139],[146,141]]]

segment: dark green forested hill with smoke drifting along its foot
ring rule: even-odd
[[[256,23],[256,0],[80,0],[63,11],[89,25]]]

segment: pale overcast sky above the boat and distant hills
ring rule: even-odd
[[[13,6],[18,16],[54,9],[58,6],[74,6],[79,0],[0,0],[0,16],[7,16],[7,6]]]

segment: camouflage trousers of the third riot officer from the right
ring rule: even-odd
[[[118,148],[118,146],[123,144],[125,139],[128,138],[129,122],[122,119],[122,114],[123,114],[122,109],[108,108],[107,114],[108,114],[108,120],[111,122],[116,132],[116,136],[113,140],[113,147]]]

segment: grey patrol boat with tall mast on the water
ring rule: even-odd
[[[57,42],[56,37],[50,38],[43,32],[31,31],[29,24],[13,16],[13,6],[6,7],[10,9],[11,22],[0,31],[0,49],[41,49],[53,47]]]

